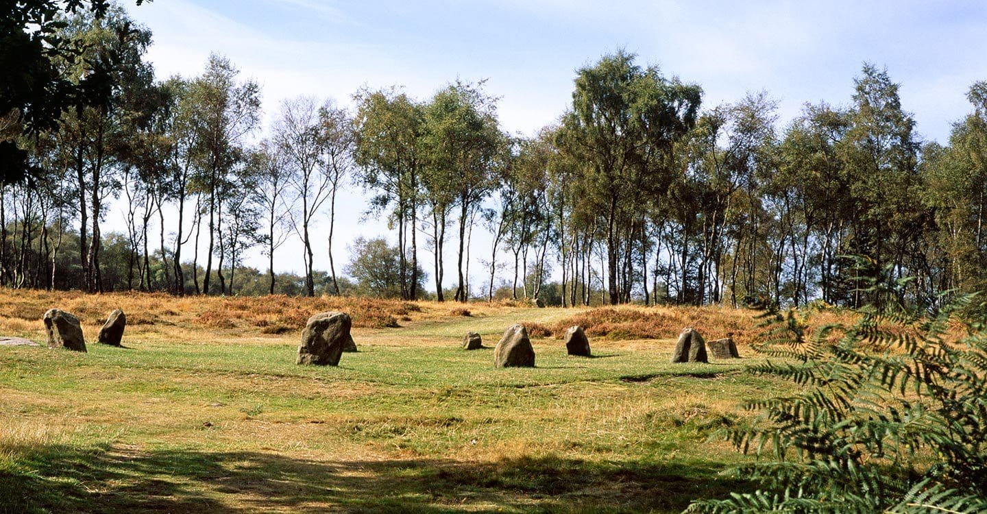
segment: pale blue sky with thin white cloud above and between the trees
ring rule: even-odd
[[[848,105],[853,78],[873,62],[901,84],[921,137],[945,143],[950,124],[971,110],[967,88],[987,80],[980,1],[126,1],[154,34],[148,58],[159,78],[195,76],[209,52],[225,54],[262,85],[267,122],[282,99],[300,95],[348,105],[362,86],[400,85],[427,99],[457,78],[486,79],[503,128],[531,135],[566,110],[577,68],[625,48],[640,64],[701,85],[706,108],[768,91],[782,127],[806,102]],[[338,263],[357,236],[393,241],[381,221],[363,218],[365,198],[350,187],[339,208]],[[490,258],[490,238],[473,241],[477,270]],[[278,270],[299,272],[300,246],[290,245]],[[327,269],[320,246],[316,268]],[[254,254],[248,263],[266,268]]]

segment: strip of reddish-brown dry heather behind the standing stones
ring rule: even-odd
[[[590,337],[620,339],[670,339],[685,327],[694,327],[707,338],[732,333],[738,342],[753,342],[760,329],[757,312],[717,307],[603,307],[586,311],[531,310],[503,302],[463,304],[407,302],[354,297],[304,298],[284,295],[264,297],[174,297],[163,293],[108,293],[91,295],[78,291],[0,290],[0,332],[30,336],[38,321],[52,307],[75,314],[84,326],[99,327],[116,308],[126,313],[127,325],[147,330],[171,327],[186,330],[247,330],[277,334],[301,330],[308,319],[321,312],[343,311],[357,329],[398,328],[421,320],[483,319],[499,312],[530,312],[546,315],[518,316],[531,337],[561,338],[578,325]],[[537,322],[535,321],[537,320]],[[560,320],[560,321],[555,321]],[[845,314],[818,310],[808,318],[810,327],[848,323]],[[479,323],[479,322],[478,322]],[[140,329],[138,329],[140,330]]]

